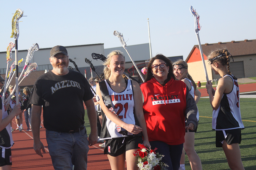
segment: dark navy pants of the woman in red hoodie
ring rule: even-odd
[[[179,170],[183,144],[169,145],[161,141],[151,141],[149,143],[152,149],[157,148],[156,152],[164,155],[164,157],[162,158],[162,162],[166,163],[169,166],[165,169]]]

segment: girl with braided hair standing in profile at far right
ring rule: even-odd
[[[244,170],[239,148],[244,125],[240,112],[239,87],[237,78],[229,70],[229,56],[227,49],[213,51],[208,56],[212,70],[221,78],[216,91],[211,81],[207,81],[206,89],[213,108],[212,129],[216,130],[216,147],[223,148],[230,169]]]

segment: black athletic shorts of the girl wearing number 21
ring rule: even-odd
[[[142,136],[118,137],[106,139],[104,154],[118,156],[132,149],[139,149],[138,144],[142,144]]]

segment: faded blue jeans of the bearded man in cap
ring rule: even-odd
[[[89,151],[86,129],[69,134],[46,130],[46,140],[55,170],[86,170]]]

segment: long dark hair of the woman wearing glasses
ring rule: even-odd
[[[169,58],[167,58],[166,56],[164,56],[162,54],[158,54],[155,57],[151,58],[151,60],[148,63],[148,71],[147,71],[147,74],[146,74],[145,82],[150,80],[151,78],[153,78],[153,74],[151,72],[152,71],[152,64],[156,59],[163,60],[166,63],[166,66],[169,66],[167,79],[164,80],[164,83],[162,85],[165,85],[169,80],[171,80],[171,78],[175,79],[175,76],[173,74],[172,61]]]

